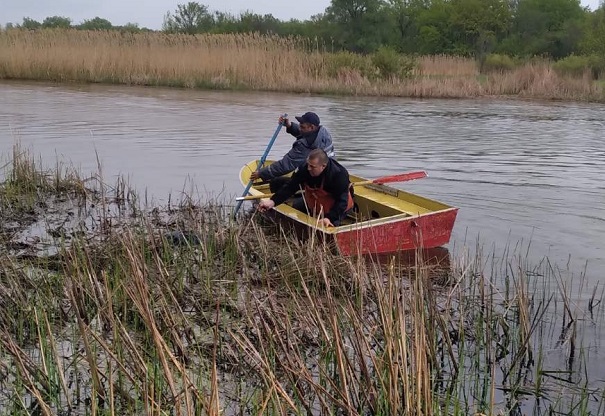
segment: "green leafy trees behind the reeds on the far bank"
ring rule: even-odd
[[[7,27],[37,29],[148,30],[135,23],[113,26],[96,17],[72,26],[53,16],[24,18]],[[511,57],[585,55],[605,61],[605,5],[594,11],[580,0],[332,0],[307,20],[279,20],[271,14],[233,15],[198,2],[178,4],[164,16],[167,33],[249,33],[308,38],[328,51],[373,53],[388,47],[403,54],[488,54]]]

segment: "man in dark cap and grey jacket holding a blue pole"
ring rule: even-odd
[[[252,180],[261,178],[263,181],[271,181],[271,192],[276,192],[287,182],[288,179],[282,178],[283,175],[306,163],[311,150],[323,149],[329,157],[335,155],[332,136],[328,129],[320,124],[317,114],[307,112],[300,117],[296,117],[296,120],[300,124],[283,117],[279,118],[279,122],[286,126],[286,132],[296,137],[290,151],[277,162],[252,172],[250,175]]]

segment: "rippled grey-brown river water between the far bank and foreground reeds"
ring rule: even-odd
[[[106,181],[123,175],[157,202],[182,192],[230,201],[278,115],[306,110],[352,172],[426,170],[397,186],[460,207],[451,250],[479,244],[498,257],[509,246],[585,272],[589,286],[605,277],[602,105],[2,83],[0,154],[5,162],[20,141],[49,166],[86,173],[100,162]],[[290,145],[282,132],[270,157]]]

